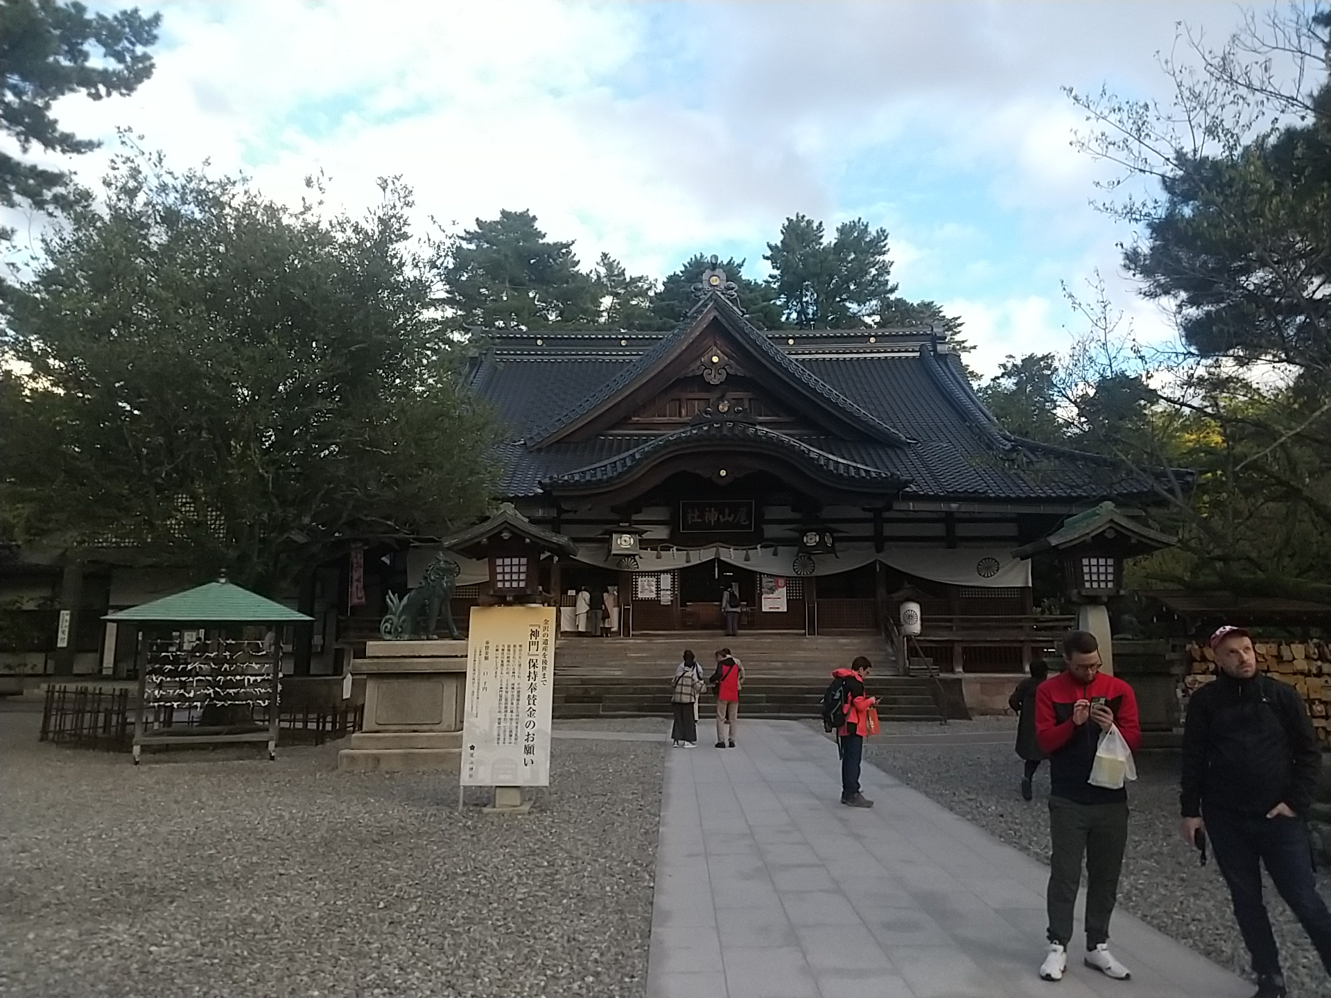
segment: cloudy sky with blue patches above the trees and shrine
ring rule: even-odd
[[[116,4],[121,5],[121,4]],[[1105,168],[1070,148],[1061,86],[1167,96],[1183,23],[1221,43],[1233,3],[572,4],[422,0],[140,3],[161,9],[134,96],[67,100],[63,124],[126,125],[174,165],[242,169],[295,200],[323,170],[350,209],[403,174],[422,218],[531,209],[584,262],[663,277],[745,257],[804,212],[892,236],[901,294],[964,317],[992,373],[1078,331],[1059,282],[1122,279],[1129,233],[1089,204]],[[93,180],[100,154],[77,166]]]

